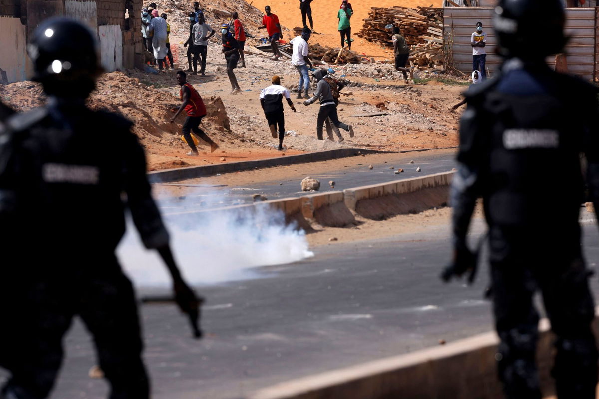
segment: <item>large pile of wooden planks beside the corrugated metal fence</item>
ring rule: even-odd
[[[399,26],[412,47],[410,66],[426,72],[443,71],[442,8],[373,7],[358,36],[393,47],[392,29],[385,29],[388,25]]]

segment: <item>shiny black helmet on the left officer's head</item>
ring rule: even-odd
[[[35,29],[28,45],[33,80],[49,95],[87,97],[102,72],[98,44],[87,26],[73,19],[51,18]]]

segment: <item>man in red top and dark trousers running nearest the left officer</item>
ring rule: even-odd
[[[187,112],[187,118],[185,119],[185,123],[183,123],[183,137],[185,141],[191,148],[191,151],[187,153],[190,156],[198,155],[198,148],[195,147],[195,143],[193,142],[190,131],[193,130],[196,136],[210,144],[210,152],[213,153],[214,150],[219,148],[219,145],[216,144],[206,133],[204,130],[199,128],[199,123],[202,121],[202,118],[206,116],[206,106],[204,105],[204,101],[202,101],[199,93],[193,89],[193,86],[186,81],[187,74],[183,71],[177,72],[177,84],[181,86],[180,96],[183,103],[177,108],[171,109],[171,111],[175,112],[174,117],[171,118],[171,123],[175,121],[177,116],[185,109]]]

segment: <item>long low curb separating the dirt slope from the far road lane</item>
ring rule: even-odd
[[[401,154],[401,153],[420,153],[431,150],[449,150],[457,147],[436,147],[422,148],[420,150],[406,151],[380,151],[369,150],[365,148],[337,148],[335,150],[315,151],[313,153],[289,155],[283,157],[274,157],[266,159],[256,159],[241,162],[223,162],[214,165],[178,167],[176,169],[153,170],[148,172],[148,179],[151,183],[169,182],[184,179],[192,179],[201,176],[215,175],[216,173],[237,172],[237,170],[251,170],[260,167],[270,167],[279,165],[293,165],[296,163],[326,161],[335,158],[344,158],[361,154]]]

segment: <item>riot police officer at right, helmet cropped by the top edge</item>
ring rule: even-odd
[[[497,78],[466,93],[459,167],[452,183],[453,264],[445,279],[475,269],[466,234],[477,197],[489,225],[495,355],[510,399],[540,399],[535,365],[540,291],[556,334],[558,398],[594,398],[594,301],[580,250],[579,154],[599,209],[597,89],[558,74],[544,59],[565,45],[560,0],[500,0],[494,26],[504,57]],[[530,33],[540,37],[531,39]]]

